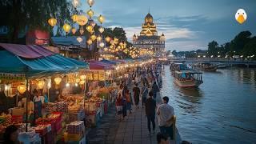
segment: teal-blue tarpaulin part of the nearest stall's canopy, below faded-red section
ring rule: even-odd
[[[12,45],[9,44],[8,46]],[[14,46],[17,49],[18,46]],[[21,46],[24,49],[25,45]],[[42,49],[42,47],[39,49]],[[88,69],[88,67],[86,62],[65,58],[59,54],[48,54],[45,57],[38,58],[23,58],[10,52],[8,48],[0,46],[0,73],[26,74],[28,77],[33,77],[40,74],[69,73],[78,69]]]

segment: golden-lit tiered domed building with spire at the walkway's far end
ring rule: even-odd
[[[134,34],[134,47],[163,52],[165,50],[165,35],[158,35],[157,26],[154,24],[154,18],[150,13],[146,14],[144,21],[140,35]]]

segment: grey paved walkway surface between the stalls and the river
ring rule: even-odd
[[[130,87],[131,90],[131,87]],[[161,98],[156,98],[157,105],[161,102]],[[156,144],[159,127],[158,120],[155,118],[155,134],[149,135],[147,130],[147,119],[145,115],[145,107],[142,108],[142,101],[139,103],[139,109],[133,106],[132,114],[127,111],[125,121],[119,122],[115,116],[115,107],[112,106],[109,113],[103,116],[96,128],[90,130],[87,134],[89,144]],[[151,125],[152,129],[152,125]]]

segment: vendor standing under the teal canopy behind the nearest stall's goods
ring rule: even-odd
[[[34,118],[42,118],[42,106],[44,105],[45,98],[38,93],[38,90],[34,89]]]

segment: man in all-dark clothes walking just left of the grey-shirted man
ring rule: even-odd
[[[147,118],[147,128],[149,132],[151,132],[150,122],[152,122],[153,131],[155,130],[154,118],[155,118],[156,102],[152,98],[153,97],[152,91],[150,91],[149,95],[150,95],[150,98],[146,100],[146,118]]]

